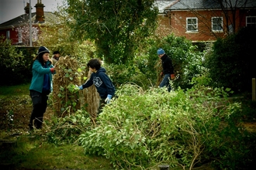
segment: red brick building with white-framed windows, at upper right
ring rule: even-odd
[[[193,42],[214,41],[245,26],[256,27],[256,1],[175,0],[159,15],[159,26]],[[225,3],[230,2],[230,3]]]

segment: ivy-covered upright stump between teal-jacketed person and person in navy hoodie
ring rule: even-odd
[[[79,90],[81,68],[78,69],[77,59],[61,57],[56,64],[54,75],[54,109],[59,117],[74,113],[80,108]]]

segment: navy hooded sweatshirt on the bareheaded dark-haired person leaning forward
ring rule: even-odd
[[[100,67],[96,73],[92,73],[90,79],[82,86],[83,88],[87,88],[91,87],[92,84],[95,85],[101,98],[106,98],[108,94],[114,96],[116,92],[112,81],[109,79],[109,76],[106,75],[106,69],[103,67]]]

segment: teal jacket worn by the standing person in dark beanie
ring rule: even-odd
[[[32,80],[29,87],[29,90],[35,90],[40,93],[43,91],[43,78],[44,74],[49,74],[50,78],[50,92],[53,90],[53,82],[52,82],[52,73],[50,72],[50,68],[54,67],[50,61],[47,61],[46,64],[47,68],[44,68],[42,64],[39,62],[38,59],[36,59],[33,63],[32,67]],[[54,72],[55,73],[55,72]]]

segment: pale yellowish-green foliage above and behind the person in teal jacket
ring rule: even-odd
[[[37,42],[47,46],[51,53],[59,51],[61,56],[72,56],[78,59],[79,63],[85,64],[94,55],[94,42],[71,35],[67,20],[72,17],[67,15],[64,8],[65,5],[58,6],[57,12],[54,12],[56,18],[40,27],[41,33]]]

